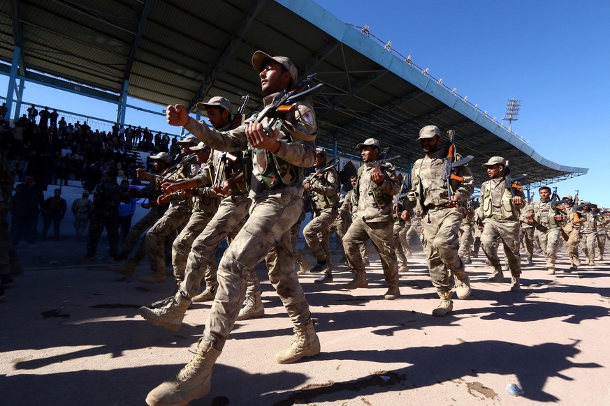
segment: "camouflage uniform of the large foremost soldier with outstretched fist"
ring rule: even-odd
[[[280,93],[266,96],[264,104],[269,105],[280,96]],[[256,116],[250,120],[254,119]],[[264,119],[265,123],[268,125],[270,120]],[[218,351],[224,347],[238,317],[248,276],[263,259],[267,261],[270,283],[293,324],[297,327],[311,324],[309,305],[294,271],[290,238],[290,228],[303,207],[301,168],[312,166],[315,158],[317,126],[310,100],[299,102],[295,112],[286,113],[274,125],[281,125],[279,150],[275,154],[253,150],[250,216],[225,251],[217,271],[218,290],[203,340]],[[247,148],[246,126],[247,123],[221,133],[191,119],[185,128],[213,149],[238,151]]]

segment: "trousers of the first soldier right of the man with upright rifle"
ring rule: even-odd
[[[498,239],[502,241],[511,276],[521,275],[521,254],[519,253],[519,222],[518,220],[484,220],[481,246],[491,266],[500,266],[498,258]]]

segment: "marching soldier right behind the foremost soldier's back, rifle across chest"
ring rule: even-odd
[[[314,162],[316,172],[303,180],[305,192],[310,193],[312,197],[312,220],[303,229],[305,242],[317,260],[317,264],[311,271],[324,271],[324,275],[317,278],[315,283],[325,283],[333,280],[329,227],[337,218],[339,183],[335,167],[324,170],[325,166],[326,151],[323,148],[317,148]]]

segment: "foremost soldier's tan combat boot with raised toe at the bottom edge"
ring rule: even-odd
[[[187,405],[191,400],[203,398],[210,391],[212,367],[220,351],[213,349],[208,341],[199,338],[197,349],[191,361],[180,373],[156,388],[146,396],[150,406]]]

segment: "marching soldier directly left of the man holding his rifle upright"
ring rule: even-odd
[[[356,216],[343,238],[343,248],[347,262],[354,273],[354,279],[345,285],[354,290],[367,287],[366,271],[360,253],[361,244],[370,239],[379,253],[388,283],[384,299],[393,300],[400,296],[398,289],[398,260],[396,258],[393,232],[393,199],[400,190],[400,183],[391,163],[377,165],[379,141],[368,138],[356,146],[361,151],[364,164],[358,168],[356,196]]]

